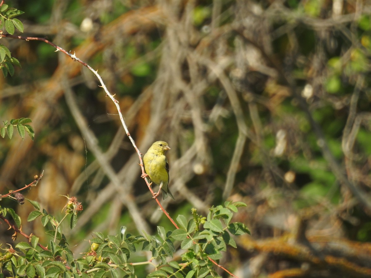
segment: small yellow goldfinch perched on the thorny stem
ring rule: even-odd
[[[160,186],[157,193],[154,193],[153,198],[156,198],[162,190],[162,199],[166,199],[168,194],[174,199],[171,194],[169,185],[169,164],[165,156],[165,151],[170,150],[168,143],[157,141],[147,150],[143,156],[143,166],[145,174],[142,178],[149,176],[151,181]],[[175,199],[174,199],[175,201]]]

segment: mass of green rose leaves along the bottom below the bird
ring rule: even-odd
[[[79,208],[82,209],[75,199],[69,198],[63,219],[67,215],[76,216]],[[143,232],[144,236],[141,236],[127,233],[127,228],[122,226],[117,235],[105,236],[101,232],[94,232],[88,252],[75,258],[60,228],[63,219],[58,221],[41,209],[38,202],[27,201],[36,209],[30,212],[27,221],[39,218],[43,226],[51,224],[53,229],[46,232],[51,236],[47,247],[40,244],[39,237],[32,235],[30,239],[19,242],[15,249],[2,249],[0,269],[7,270],[12,277],[134,277],[135,266],[143,264],[155,267],[148,277],[219,277],[213,261],[222,258],[221,252],[226,251],[227,245],[237,247],[233,236],[250,234],[244,224],[231,222],[233,212],[246,204],[228,201],[224,206],[211,207],[207,217],[198,215],[195,209],[192,209],[192,219],[178,215],[180,228],[173,231],[165,231],[158,226],[155,235]],[[13,209],[0,209],[1,218],[10,215],[16,226],[21,226],[20,216]],[[177,251],[175,246],[179,244],[185,252],[180,260],[175,261],[172,258]],[[150,261],[132,262],[131,257],[142,251],[151,252]]]

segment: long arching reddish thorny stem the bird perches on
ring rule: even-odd
[[[2,1],[3,2],[3,1]],[[1,2],[1,3],[2,3]],[[1,6],[1,4],[0,4]],[[76,57],[76,53],[73,53],[71,54],[70,52],[67,52],[66,50],[64,50],[62,47],[59,47],[58,45],[50,42],[49,40],[45,39],[45,38],[39,38],[39,37],[22,37],[22,36],[15,36],[15,35],[11,35],[11,34],[0,34],[0,39],[1,37],[9,37],[9,38],[13,38],[13,39],[20,39],[20,40],[26,40],[26,41],[29,41],[29,40],[39,40],[41,42],[45,42],[53,47],[55,47],[57,50],[56,51],[60,51],[60,52],[63,52],[65,53],[66,55],[68,55],[69,57],[71,57],[71,59],[73,61],[76,61],[76,62],[79,62],[81,63],[83,66],[87,67],[89,70],[91,70],[94,75],[98,78],[99,82],[101,82],[101,86],[106,95],[112,100],[112,102],[115,104],[116,106],[116,109],[118,111],[118,115],[119,115],[119,118],[121,120],[121,124],[122,126],[124,127],[124,130],[126,132],[126,135],[128,136],[131,144],[133,145],[135,151],[137,152],[138,154],[138,157],[139,157],[139,165],[141,166],[141,169],[142,169],[142,174],[145,174],[145,171],[144,171],[144,166],[143,166],[143,160],[142,160],[142,154],[141,152],[139,151],[139,149],[137,148],[137,145],[135,144],[134,142],[134,139],[131,137],[130,133],[129,133],[129,130],[128,130],[128,127],[124,121],[124,118],[122,116],[122,113],[121,113],[121,109],[120,109],[120,106],[119,106],[119,103],[118,103],[118,100],[115,99],[115,95],[112,95],[108,89],[106,88],[103,80],[102,80],[102,77],[98,74],[98,72],[94,69],[92,69],[91,66],[89,66],[87,63],[83,62],[82,60],[80,60],[78,57]],[[152,193],[152,195],[154,194],[152,188],[151,188],[151,185],[150,183],[148,183],[147,179],[144,179],[145,183],[147,184],[148,186],[148,189],[150,190],[150,192]],[[175,221],[170,217],[170,215],[168,214],[168,212],[164,209],[164,207],[161,205],[160,201],[158,201],[157,197],[155,198],[158,206],[160,206],[160,209],[162,210],[162,212],[164,212],[164,214],[166,215],[166,217],[171,221],[171,223],[175,226],[175,228],[179,229],[178,225],[175,223]],[[63,219],[62,219],[63,220]],[[210,257],[207,257],[213,264],[215,264],[217,267],[223,269],[224,271],[226,271],[229,275],[231,275],[232,277],[235,277],[235,278],[238,278],[237,276],[233,275],[231,272],[229,272],[226,268],[224,268],[223,266],[219,265],[216,261],[214,261],[213,259],[211,259]]]

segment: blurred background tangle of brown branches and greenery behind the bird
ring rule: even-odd
[[[370,1],[6,3],[25,12],[24,36],[98,70],[142,153],[169,143],[176,201],[160,200],[174,219],[247,203],[234,221],[252,236],[236,238],[221,265],[240,278],[371,277]],[[23,193],[59,219],[60,195],[76,196],[78,224],[62,228],[76,257],[93,231],[172,229],[92,72],[43,42],[1,44],[22,64],[0,76],[1,120],[29,117],[36,135],[0,140],[0,192],[44,171]],[[28,202],[1,205],[47,245],[40,221],[26,221]]]

